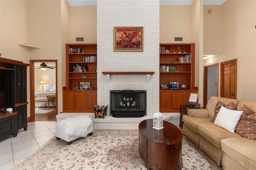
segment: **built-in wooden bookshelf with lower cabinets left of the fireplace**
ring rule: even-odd
[[[81,82],[90,84],[85,89]],[[86,86],[87,87],[87,86]],[[93,112],[97,104],[97,44],[66,44],[63,112]]]

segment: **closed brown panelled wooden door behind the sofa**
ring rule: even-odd
[[[220,97],[236,99],[237,59],[220,63]]]

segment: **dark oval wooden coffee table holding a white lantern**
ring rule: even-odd
[[[182,168],[182,132],[164,121],[164,128],[153,127],[153,119],[139,124],[139,153],[150,170],[179,170]]]

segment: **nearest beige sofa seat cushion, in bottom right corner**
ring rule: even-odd
[[[256,140],[247,138],[226,138],[221,140],[221,148],[224,153],[228,154],[238,164],[244,165],[248,169],[255,169]]]

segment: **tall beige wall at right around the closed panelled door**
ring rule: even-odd
[[[237,99],[256,101],[256,1],[227,0],[221,6],[221,55],[213,63],[237,59]],[[204,61],[209,65],[209,60]],[[220,67],[219,67],[220,69]],[[219,70],[220,95],[220,70]]]

